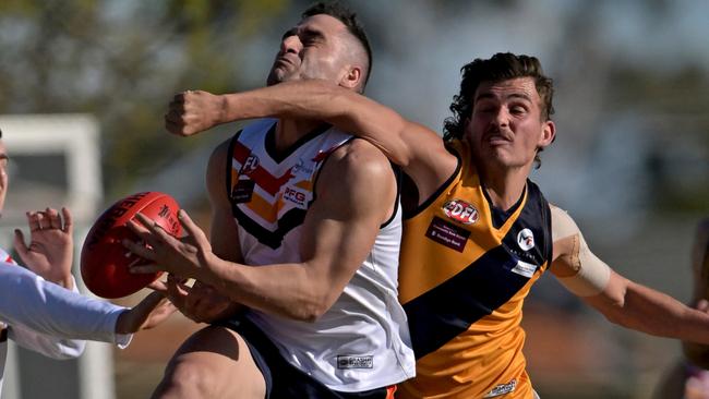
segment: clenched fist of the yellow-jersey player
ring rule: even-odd
[[[187,90],[172,97],[165,114],[165,129],[172,134],[191,136],[219,123],[224,112],[221,97],[203,90]]]

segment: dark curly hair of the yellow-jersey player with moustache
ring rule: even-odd
[[[542,100],[542,118],[551,119],[554,113],[552,97],[554,85],[550,77],[544,75],[541,63],[536,57],[516,56],[510,52],[498,52],[489,60],[476,59],[460,69],[462,81],[460,92],[453,96],[450,111],[453,117],[443,123],[443,138],[450,141],[462,138],[465,123],[472,114],[473,96],[478,86],[483,82],[502,82],[516,77],[532,77],[534,86]],[[537,158],[539,162],[539,158]]]

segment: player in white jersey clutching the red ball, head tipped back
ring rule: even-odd
[[[370,65],[354,15],[316,4],[285,33],[267,83],[323,78],[361,92]],[[322,121],[261,120],[214,152],[207,186],[211,243],[184,211],[190,242],[143,219],[148,230],[131,226],[149,246],[127,246],[155,265],[134,271],[195,278],[248,310],[192,336],[154,397],[392,397],[413,356],[396,299],[400,207],[386,157]],[[195,316],[196,301],[183,302]]]

